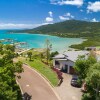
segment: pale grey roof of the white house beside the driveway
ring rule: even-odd
[[[71,60],[73,62],[75,62],[79,56],[85,55],[85,57],[87,57],[89,54],[88,51],[67,51],[64,52],[63,54],[59,54],[57,56],[55,56],[55,59],[67,59],[67,60]]]

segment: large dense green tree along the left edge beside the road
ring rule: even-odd
[[[21,91],[16,84],[15,72],[21,73],[23,71],[22,63],[13,63],[14,50],[9,47],[11,46],[2,49],[5,52],[0,58],[0,99],[21,100]]]

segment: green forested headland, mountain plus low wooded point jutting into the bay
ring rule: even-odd
[[[100,22],[87,22],[80,20],[67,20],[54,24],[39,26],[34,29],[17,30],[10,32],[21,32],[30,34],[48,34],[59,37],[85,38],[82,44],[71,45],[71,48],[84,49],[89,46],[100,46]]]

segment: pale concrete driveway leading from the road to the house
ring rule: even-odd
[[[60,86],[55,87],[61,100],[81,100],[82,92],[80,91],[80,88],[75,88],[70,85],[72,76],[63,73],[63,78],[63,83]]]

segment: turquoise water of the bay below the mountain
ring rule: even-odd
[[[42,34],[28,34],[28,33],[13,33],[9,34],[5,30],[0,30],[0,39],[13,39],[18,42],[27,42],[28,48],[45,48],[46,39],[50,40],[53,51],[64,51],[72,44],[79,44],[83,42],[81,38],[61,38],[57,36],[42,35]]]

